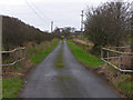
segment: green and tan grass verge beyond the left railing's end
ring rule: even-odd
[[[49,42],[42,43],[37,47],[30,48],[29,52],[31,53],[30,56],[31,62],[34,64],[40,63],[58,46],[58,42],[59,40],[55,40],[54,42],[51,42],[51,43]],[[35,48],[39,51],[35,51]]]

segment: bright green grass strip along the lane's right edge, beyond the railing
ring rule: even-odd
[[[103,64],[103,61],[101,61],[101,59],[85,52],[83,49],[81,49],[70,40],[66,40],[66,42],[74,57],[83,64],[88,66],[89,68],[95,68]]]

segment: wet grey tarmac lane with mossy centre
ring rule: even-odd
[[[64,68],[57,69],[58,54]],[[71,53],[65,41],[28,76],[21,98],[117,98],[98,76],[85,69]]]

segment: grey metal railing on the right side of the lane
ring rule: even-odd
[[[117,50],[113,50],[113,49],[124,49],[124,48],[130,48],[130,47],[110,47],[110,48],[102,48],[101,49],[101,60],[103,60],[104,62],[106,62],[108,64],[112,66],[113,68],[115,68],[117,70],[117,78],[120,72],[133,72],[133,70],[123,70],[121,69],[121,58],[122,54],[126,54],[126,56],[133,56],[133,52],[122,52],[122,51],[117,51]],[[106,51],[106,58],[103,57],[103,51]],[[110,52],[113,53],[117,53],[117,57],[110,57]],[[119,59],[119,66],[116,67],[115,64],[111,63],[109,60],[112,59]]]

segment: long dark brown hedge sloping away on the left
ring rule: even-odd
[[[3,16],[2,47],[6,50],[22,47],[27,42],[40,43],[54,38],[53,34],[43,32],[32,26],[25,24],[17,18]]]

